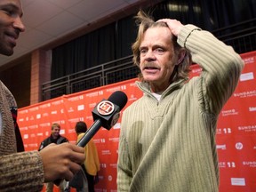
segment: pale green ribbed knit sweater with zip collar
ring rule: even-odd
[[[193,25],[181,29],[178,44],[203,71],[170,84],[159,101],[138,82],[144,95],[121,122],[118,191],[219,191],[216,124],[244,63],[232,47]]]

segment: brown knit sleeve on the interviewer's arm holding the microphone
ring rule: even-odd
[[[41,191],[44,167],[37,151],[0,157],[0,191]]]

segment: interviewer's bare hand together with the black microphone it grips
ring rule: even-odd
[[[77,145],[62,143],[51,144],[39,153],[44,164],[44,182],[54,181],[56,185],[61,180],[72,180],[76,172],[81,170],[84,163],[84,146],[92,139],[92,136],[100,130],[100,127],[110,130],[120,116],[120,111],[127,103],[124,92],[113,92],[108,100],[101,100],[92,110],[94,123],[85,132],[84,137]]]

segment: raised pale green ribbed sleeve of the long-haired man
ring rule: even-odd
[[[203,68],[200,86],[204,109],[219,114],[236,89],[244,68],[243,60],[231,46],[212,33],[190,24],[181,28],[178,44],[186,47],[191,52],[192,60]]]

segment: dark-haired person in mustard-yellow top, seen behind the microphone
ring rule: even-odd
[[[83,122],[77,122],[75,126],[77,140],[81,140],[84,133],[87,131],[87,125]],[[98,172],[100,171],[100,160],[98,156],[97,148],[93,142],[90,140],[84,147],[85,161],[82,165],[86,179],[88,181],[88,191],[94,192],[94,184],[98,182]],[[77,191],[78,192],[78,191]]]

